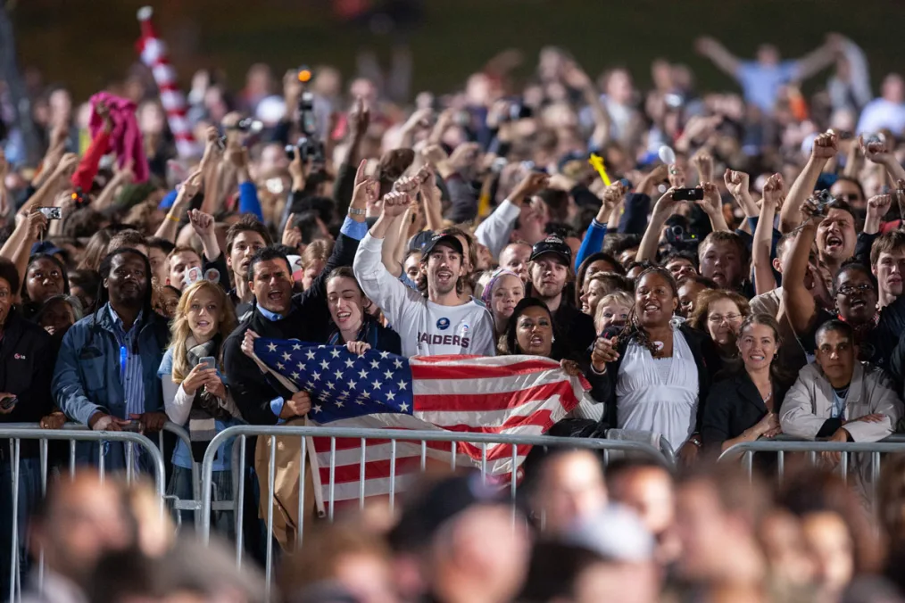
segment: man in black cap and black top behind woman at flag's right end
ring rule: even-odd
[[[547,304],[553,315],[553,357],[557,360],[586,359],[596,336],[594,318],[572,306],[571,296],[563,295],[571,273],[572,250],[559,237],[547,237],[531,250],[531,296]]]

